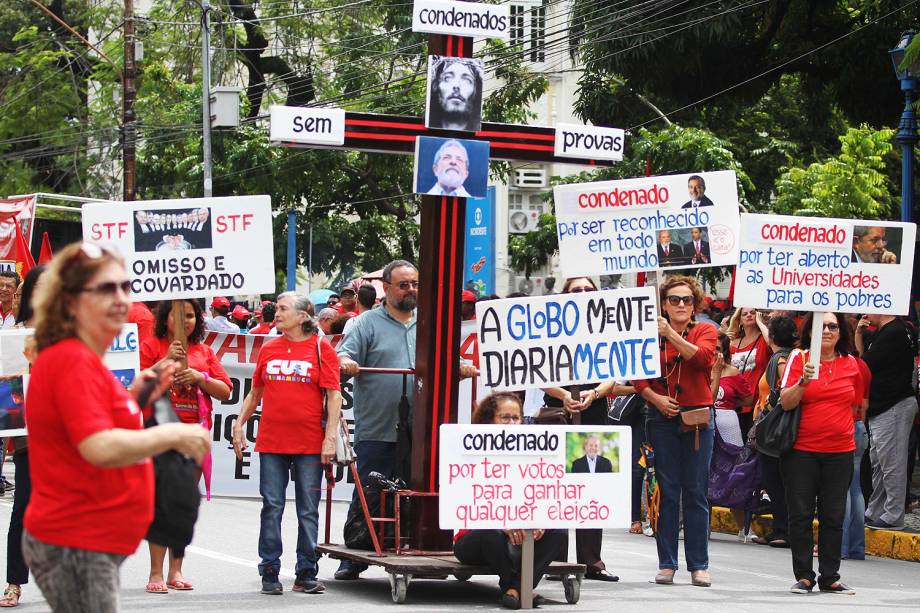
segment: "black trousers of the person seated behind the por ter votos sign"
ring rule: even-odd
[[[537,587],[550,562],[559,557],[559,550],[568,542],[566,530],[547,530],[534,543],[533,586]],[[454,542],[454,555],[462,564],[488,566],[498,575],[502,592],[521,589],[520,548],[513,551],[508,537],[501,530],[470,530]]]

